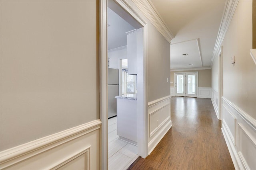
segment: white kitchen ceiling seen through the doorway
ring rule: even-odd
[[[132,25],[108,8],[108,50],[127,45],[126,32],[134,29]]]

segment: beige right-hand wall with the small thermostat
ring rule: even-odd
[[[223,96],[256,119],[256,65],[252,49],[252,0],[239,1],[223,41]],[[230,58],[236,56],[236,63]]]

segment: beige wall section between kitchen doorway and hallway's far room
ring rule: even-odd
[[[170,43],[148,24],[148,102],[170,95]]]

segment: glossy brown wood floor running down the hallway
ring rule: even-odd
[[[210,99],[172,97],[172,127],[131,170],[233,170]]]

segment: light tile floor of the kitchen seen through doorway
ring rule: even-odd
[[[116,134],[116,117],[108,119],[108,170],[126,170],[136,158],[137,147]]]

